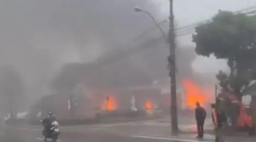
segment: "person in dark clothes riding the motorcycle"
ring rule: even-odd
[[[52,111],[49,111],[47,118],[42,120],[42,125],[44,125],[44,132],[46,137],[51,134],[50,129],[52,126],[52,122],[54,121],[56,121],[56,117],[53,115]]]

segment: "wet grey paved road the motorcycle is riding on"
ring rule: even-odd
[[[191,125],[191,127],[194,127]],[[140,121],[87,126],[60,127],[60,141],[67,142],[197,142],[195,135],[171,136],[169,123],[159,121]],[[42,141],[40,127],[6,127],[1,142],[34,142]],[[212,141],[212,140],[201,140]]]

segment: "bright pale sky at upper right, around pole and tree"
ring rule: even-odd
[[[168,17],[169,0],[151,0],[161,7],[161,18]],[[189,25],[210,19],[218,10],[238,11],[244,8],[256,6],[256,0],[174,0],[174,14],[177,26]],[[191,35],[177,39],[180,46],[190,46]],[[226,61],[216,60],[214,56],[204,58],[198,56],[193,67],[197,72],[216,73],[222,69],[228,71]]]

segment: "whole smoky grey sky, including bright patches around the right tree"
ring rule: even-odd
[[[63,63],[92,62],[126,48],[122,45],[154,27],[150,17],[134,12],[135,6],[160,22],[167,19],[168,4],[168,0],[2,0],[1,64],[17,68],[26,86],[43,94],[45,83]],[[219,9],[236,11],[252,5],[255,0],[174,0],[175,22],[187,25],[209,19]],[[161,36],[156,30],[150,34]],[[190,35],[178,41],[180,46],[193,45]],[[194,68],[216,72],[226,66],[224,61],[199,57]]]

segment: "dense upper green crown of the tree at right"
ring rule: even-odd
[[[193,41],[200,55],[214,54],[218,59],[229,59],[244,54],[253,55],[250,51],[255,51],[254,17],[222,11],[212,21],[197,26],[196,33]]]

